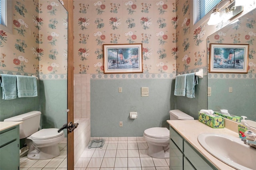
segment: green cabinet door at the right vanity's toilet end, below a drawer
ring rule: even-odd
[[[170,170],[182,170],[183,154],[180,149],[174,144],[172,139],[170,139]]]

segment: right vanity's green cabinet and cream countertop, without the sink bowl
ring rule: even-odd
[[[238,132],[228,128],[211,128],[198,120],[167,122],[170,125],[170,169],[235,170],[207,152],[197,137],[206,132],[238,137]]]

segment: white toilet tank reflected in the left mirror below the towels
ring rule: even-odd
[[[20,124],[20,139],[23,139],[38,131],[40,126],[40,117],[40,111],[31,111],[18,116],[10,117],[8,119],[4,119],[4,122],[22,121]]]

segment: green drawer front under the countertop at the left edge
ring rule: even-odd
[[[0,147],[17,140],[17,136],[19,135],[19,129],[14,127],[12,130],[3,130],[0,133]]]

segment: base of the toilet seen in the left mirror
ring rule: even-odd
[[[34,160],[51,159],[60,155],[58,144],[54,146],[37,148],[33,144],[30,145],[27,157]]]

